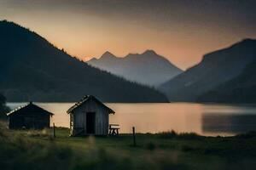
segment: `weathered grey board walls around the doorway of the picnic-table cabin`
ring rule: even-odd
[[[79,105],[70,115],[71,135],[82,134],[87,135],[86,114],[87,112],[96,113],[95,134],[108,135],[108,110],[95,100],[88,100],[84,104]],[[72,122],[73,121],[73,122]]]

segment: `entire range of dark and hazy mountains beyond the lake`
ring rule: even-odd
[[[256,102],[253,39],[206,54],[182,71],[153,50],[124,58],[106,52],[85,63],[7,20],[0,21],[0,37],[0,94],[9,102],[69,102],[86,94],[104,102]]]

